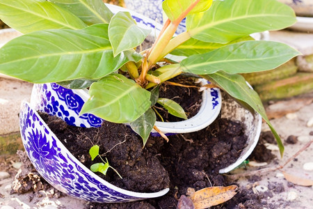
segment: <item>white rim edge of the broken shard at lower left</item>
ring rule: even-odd
[[[100,178],[99,176],[97,176],[97,174],[93,173],[93,171],[90,171],[90,169],[88,169],[81,162],[79,162],[79,160],[77,160],[77,158],[74,157],[74,155],[72,155],[72,153],[70,153],[69,150],[67,150],[67,148],[62,144],[62,142],[58,139],[58,137],[56,137],[56,134],[54,134],[54,132],[51,131],[51,129],[49,128],[47,123],[45,123],[45,121],[42,120],[42,118],[39,116],[37,111],[31,106],[31,104],[29,102],[26,102],[26,101],[22,102],[22,105],[21,105],[22,108],[23,108],[24,104],[26,104],[27,106],[29,106],[31,108],[31,110],[33,110],[35,115],[38,116],[38,118],[39,118],[40,122],[42,123],[42,125],[44,125],[45,128],[47,128],[47,130],[51,134],[51,136],[54,137],[54,139],[56,139],[56,143],[58,145],[58,148],[61,148],[61,150],[66,150],[66,152],[63,152],[64,154],[69,155],[70,157],[72,157],[74,159],[74,162],[76,164],[78,164],[79,167],[83,168],[84,171],[86,171],[88,173],[88,175],[92,176],[93,178],[95,178],[99,182],[103,183],[107,187],[109,187],[109,188],[111,188],[111,189],[113,189],[113,190],[115,190],[117,192],[120,192],[122,194],[125,194],[125,195],[128,195],[128,196],[134,196],[136,198],[141,198],[141,199],[151,199],[151,198],[156,198],[156,197],[159,197],[159,196],[163,196],[164,194],[168,193],[168,191],[170,190],[169,188],[166,188],[166,189],[162,189],[159,192],[152,192],[152,193],[131,192],[129,190],[121,189],[120,187],[116,187],[115,185],[112,185],[111,183],[109,183],[106,180],[104,180],[103,178]],[[64,156],[66,156],[66,155],[64,155]]]

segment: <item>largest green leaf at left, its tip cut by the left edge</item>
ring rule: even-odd
[[[128,61],[139,61],[133,49],[113,57],[108,24],[79,31],[36,31],[0,49],[0,72],[33,83],[99,79]]]

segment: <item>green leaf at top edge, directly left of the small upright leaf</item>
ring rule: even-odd
[[[102,0],[49,0],[70,10],[86,24],[108,23],[113,13]]]

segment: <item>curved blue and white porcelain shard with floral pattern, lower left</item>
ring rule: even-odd
[[[22,104],[19,124],[24,148],[35,169],[50,185],[65,194],[91,202],[118,203],[163,196],[169,190],[130,192],[106,182],[63,146],[28,102]]]

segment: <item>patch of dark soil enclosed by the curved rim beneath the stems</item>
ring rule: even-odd
[[[195,84],[195,78],[193,77],[179,76],[170,79],[169,82],[183,84],[186,86],[199,86],[200,88],[200,84]],[[167,98],[177,102],[184,109],[187,118],[192,118],[198,113],[202,103],[202,92],[199,91],[199,88],[186,88],[182,86],[175,86],[168,83],[163,83],[160,87],[159,98]],[[184,121],[183,118],[178,118],[176,116],[168,114],[168,111],[162,108],[160,104],[156,104],[155,107],[164,121]],[[159,116],[157,116],[157,118],[158,121],[161,121],[161,118],[159,118]]]

